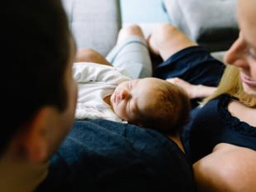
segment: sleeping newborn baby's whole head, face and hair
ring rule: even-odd
[[[157,78],[120,83],[111,95],[114,112],[129,123],[175,134],[189,118],[189,98],[180,87]]]

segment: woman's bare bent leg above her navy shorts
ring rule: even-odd
[[[171,24],[160,24],[154,28],[149,36],[148,44],[150,51],[160,55],[163,61],[184,48],[197,45]]]

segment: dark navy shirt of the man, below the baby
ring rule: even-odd
[[[37,191],[194,191],[192,168],[163,134],[106,120],[77,121]]]

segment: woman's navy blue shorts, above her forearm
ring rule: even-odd
[[[173,54],[154,69],[154,77],[167,79],[178,77],[194,85],[217,86],[225,65],[214,59],[209,51],[200,46],[188,47]],[[201,99],[192,100],[192,108]]]

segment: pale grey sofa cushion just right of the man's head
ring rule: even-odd
[[[121,28],[119,0],[62,0],[78,48],[106,55]]]

